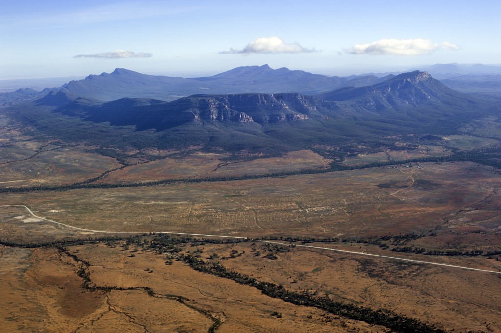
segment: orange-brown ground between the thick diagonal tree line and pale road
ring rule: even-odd
[[[309,245],[343,248],[341,245]],[[276,246],[268,247],[261,242],[255,245],[206,244],[204,253],[215,252],[220,257],[229,257],[231,250],[245,251],[242,256],[221,262],[242,274],[282,284],[291,290],[309,290],[319,297],[329,296],[372,308],[391,308],[447,330],[501,331],[501,278],[496,274],[300,247],[279,245],[290,251],[277,252]],[[378,247],[358,244],[344,249],[398,256]],[[254,255],[257,251],[261,252],[259,256]],[[278,256],[277,260],[264,257],[270,251]],[[464,258],[424,255],[412,258],[465,263]],[[472,266],[501,268],[499,262],[484,258],[467,261]]]

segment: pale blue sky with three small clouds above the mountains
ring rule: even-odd
[[[501,2],[5,1],[0,80],[115,68],[214,75],[268,64],[328,75],[501,63]]]

